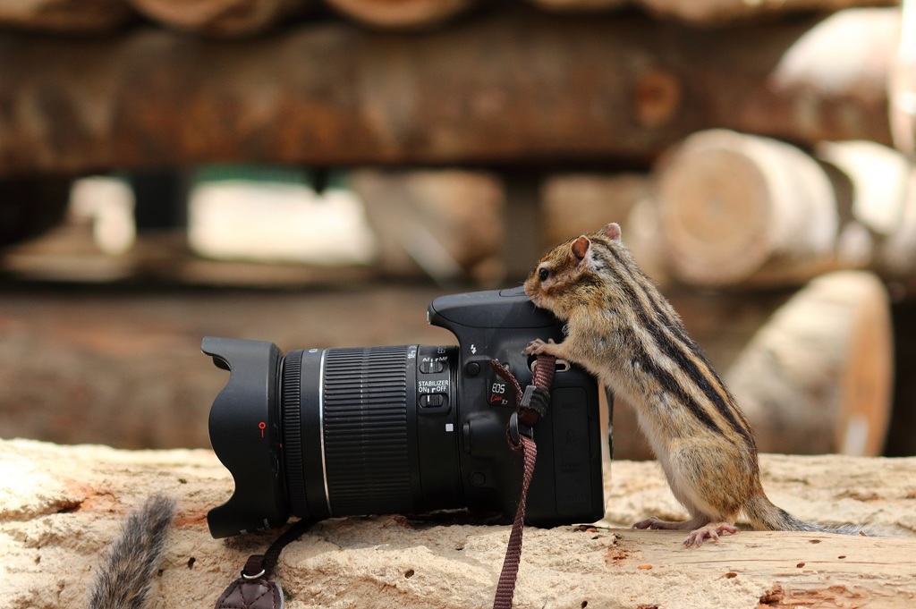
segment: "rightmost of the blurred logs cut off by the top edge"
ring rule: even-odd
[[[632,0],[654,16],[675,18],[701,26],[774,18],[818,11],[832,13],[856,6],[896,6],[899,0]]]

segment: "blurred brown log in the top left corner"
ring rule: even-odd
[[[0,0],[0,25],[39,32],[103,34],[135,17],[124,0]]]

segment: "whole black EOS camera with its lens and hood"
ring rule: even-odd
[[[528,385],[522,349],[536,338],[562,341],[562,323],[521,288],[434,299],[428,320],[459,346],[284,356],[272,343],[203,339],[203,353],[231,373],[210,412],[213,451],[235,481],[232,497],[208,514],[214,538],[279,527],[290,513],[515,514],[522,462],[506,429],[516,397],[490,360]],[[538,461],[527,520],[541,527],[605,514],[598,384],[577,366],[564,368],[533,429]]]

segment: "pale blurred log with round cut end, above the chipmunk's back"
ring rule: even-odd
[[[830,180],[777,140],[725,130],[688,137],[660,164],[656,202],[671,271],[687,283],[803,281],[835,264]]]

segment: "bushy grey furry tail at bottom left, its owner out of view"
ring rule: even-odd
[[[90,609],[140,609],[147,600],[169,527],[175,500],[153,495],[127,517],[98,564],[89,599]]]

